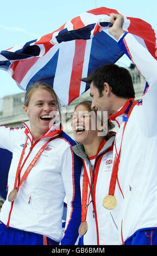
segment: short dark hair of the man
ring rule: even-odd
[[[116,96],[130,99],[135,97],[133,81],[129,70],[122,68],[116,64],[106,64],[95,70],[86,78],[81,78],[81,81],[86,83],[93,82],[99,91],[99,96],[102,96],[104,83],[108,83],[112,89],[112,93]]]

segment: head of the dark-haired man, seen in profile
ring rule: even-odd
[[[113,114],[125,101],[135,97],[129,71],[115,64],[104,65],[81,81],[90,83],[92,108]]]

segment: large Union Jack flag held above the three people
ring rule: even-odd
[[[1,51],[0,69],[23,90],[36,81],[50,84],[67,106],[89,89],[81,77],[123,55],[108,31],[111,13],[123,15],[105,7],[86,11],[50,34]],[[156,32],[149,23],[124,15],[123,30],[134,34],[156,59]]]

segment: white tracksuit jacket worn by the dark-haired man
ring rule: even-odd
[[[136,230],[157,227],[157,62],[129,33],[122,36],[118,45],[148,83],[142,102],[130,114],[122,142],[119,185],[117,182],[115,191],[122,244]],[[110,118],[113,120],[112,115]],[[116,123],[120,125],[116,134],[119,152],[124,127],[122,115],[117,116]]]

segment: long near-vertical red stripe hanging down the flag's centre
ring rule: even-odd
[[[79,96],[80,93],[80,83],[83,72],[84,54],[86,48],[86,40],[76,40],[75,53],[73,58],[71,81],[69,87],[69,98],[68,104],[70,104],[74,99]]]

